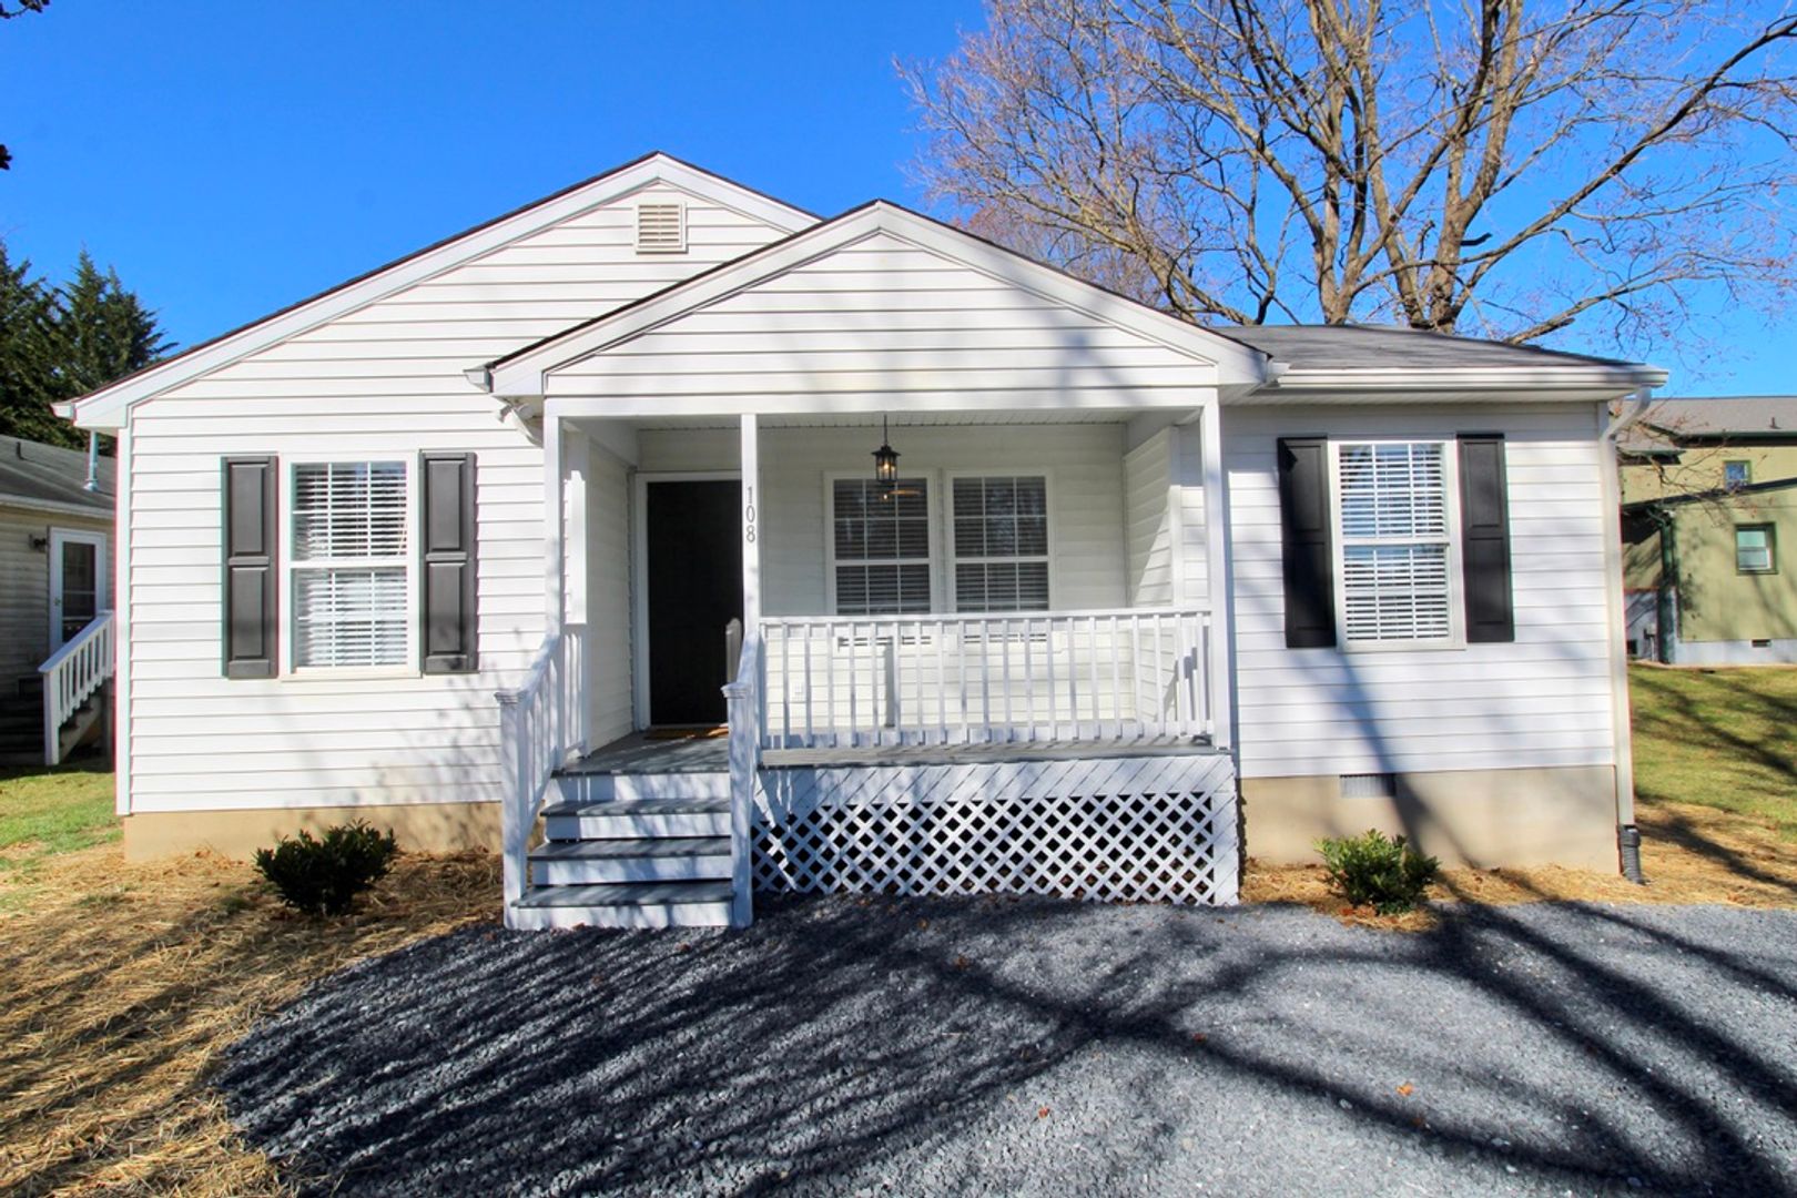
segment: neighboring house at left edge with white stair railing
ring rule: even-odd
[[[40,668],[84,630],[99,636],[97,650],[111,652],[104,630],[90,629],[113,605],[111,530],[111,458],[90,463],[75,449],[0,436],[0,756],[7,760],[47,753]],[[61,693],[68,702],[59,715],[68,718],[56,720],[52,763],[77,740],[104,733],[101,681],[90,672],[81,683],[92,686]]]

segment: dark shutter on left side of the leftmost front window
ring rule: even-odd
[[[275,677],[275,458],[225,458],[225,677]]]

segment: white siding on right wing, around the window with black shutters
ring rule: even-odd
[[[1517,641],[1285,648],[1276,440],[1457,431],[1506,436]],[[1603,548],[1614,517],[1601,503],[1589,408],[1231,408],[1224,463],[1244,776],[1612,763]]]

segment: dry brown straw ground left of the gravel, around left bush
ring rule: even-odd
[[[406,855],[354,916],[313,921],[243,862],[58,855],[0,916],[0,1193],[284,1193],[207,1085],[223,1049],[356,959],[496,920],[498,875]]]

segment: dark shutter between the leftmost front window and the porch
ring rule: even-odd
[[[474,454],[419,458],[419,575],[426,674],[473,674],[474,618]]]

